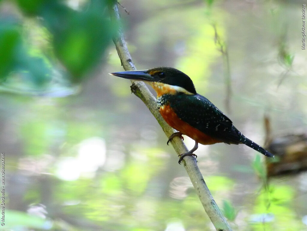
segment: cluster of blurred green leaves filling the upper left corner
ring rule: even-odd
[[[78,6],[61,0],[15,2],[15,13],[0,17],[3,86],[35,90],[55,81],[69,85],[101,63],[115,31],[107,8],[110,1],[82,1]]]

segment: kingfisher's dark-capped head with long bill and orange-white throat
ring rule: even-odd
[[[157,92],[157,97],[163,94],[196,94],[190,77],[171,67],[156,67],[142,71],[121,71],[110,74],[125,79],[146,82]]]

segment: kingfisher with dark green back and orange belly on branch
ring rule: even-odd
[[[274,158],[274,155],[245,137],[206,97],[196,92],[191,78],[171,67],[157,67],[148,70],[121,71],[109,73],[124,79],[143,81],[157,93],[157,108],[169,126],[177,130],[168,139],[187,135],[195,141],[194,147],[178,156],[179,164],[198,148],[198,143],[245,144],[261,154]]]

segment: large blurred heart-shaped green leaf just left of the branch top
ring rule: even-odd
[[[111,42],[114,30],[106,10],[106,1],[97,0],[87,2],[78,11],[61,1],[50,1],[41,9],[40,15],[54,36],[55,54],[74,81],[81,80],[99,63]]]

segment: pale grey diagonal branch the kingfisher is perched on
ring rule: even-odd
[[[114,5],[110,6],[110,14],[111,20],[117,25],[119,25],[119,31],[113,38],[113,41],[115,43],[119,58],[122,62],[122,66],[126,71],[135,70],[136,68],[132,62],[130,53],[127,49],[126,42],[123,37],[120,24],[120,15],[116,2],[114,3]],[[146,85],[140,81],[132,81],[131,90],[144,102],[144,104],[146,104],[150,112],[153,114],[153,116],[157,119],[158,123],[162,127],[163,131],[165,132],[165,135],[169,137],[171,134],[173,134],[174,129],[171,128],[160,115],[160,112],[157,110],[156,99],[148,90]],[[171,143],[178,155],[188,151],[187,147],[179,137],[174,137]],[[191,182],[196,190],[196,193],[200,199],[200,202],[204,206],[204,209],[208,214],[210,220],[212,221],[213,225],[215,226],[216,230],[231,231],[230,226],[228,225],[226,219],[223,217],[219,207],[214,201],[212,194],[210,193],[204,181],[203,176],[200,173],[200,170],[196,164],[196,159],[192,156],[186,156],[183,160],[183,163],[185,170],[187,171]]]

